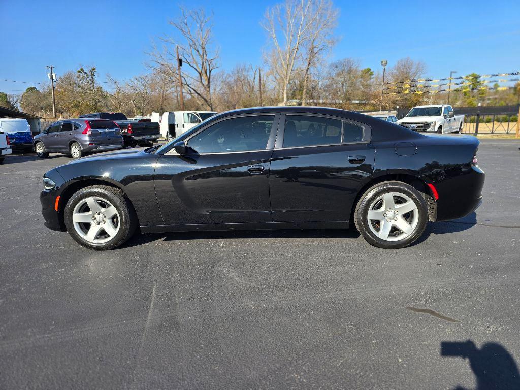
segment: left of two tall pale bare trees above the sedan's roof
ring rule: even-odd
[[[285,0],[268,8],[261,22],[267,31],[272,48],[267,56],[280,88],[283,104],[287,104],[288,87],[293,76],[301,69],[296,67],[303,43],[309,38],[309,30],[314,28],[309,15],[313,0]]]

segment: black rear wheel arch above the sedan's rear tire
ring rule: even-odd
[[[375,186],[376,184],[383,183],[384,181],[401,181],[402,183],[406,183],[422,194],[424,194],[426,203],[428,204],[428,215],[430,216],[430,220],[435,220],[437,216],[437,203],[432,197],[432,192],[426,182],[421,179],[419,176],[412,175],[410,173],[403,172],[384,172],[376,177],[371,177],[368,181],[361,186],[359,189],[354,203],[352,204],[352,210],[350,210],[349,221],[350,224],[354,223],[354,213],[356,211],[356,206],[361,199],[361,196],[370,188]],[[433,202],[433,203],[432,203]],[[435,204],[435,206],[433,206]]]

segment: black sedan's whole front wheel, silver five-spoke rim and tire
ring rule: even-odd
[[[108,186],[77,191],[65,206],[64,219],[77,243],[96,250],[118,247],[137,226],[137,216],[124,192]]]

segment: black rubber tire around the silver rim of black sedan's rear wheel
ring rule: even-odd
[[[415,206],[417,206],[417,225],[413,228],[407,237],[396,241],[381,239],[375,235],[375,233],[368,225],[371,223],[368,220],[370,205],[383,194],[387,193],[404,194],[415,203]],[[428,206],[423,194],[412,186],[406,183],[402,183],[401,181],[384,181],[383,183],[376,184],[375,186],[369,188],[365,193],[362,194],[361,198],[359,198],[359,201],[356,205],[356,210],[354,212],[354,223],[363,238],[365,238],[369,244],[385,249],[405,248],[406,246],[413,244],[422,236],[428,220]]]

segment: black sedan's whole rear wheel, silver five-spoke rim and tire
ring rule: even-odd
[[[379,248],[404,248],[422,236],[428,209],[422,193],[412,186],[385,181],[363,193],[354,221],[370,244]]]

